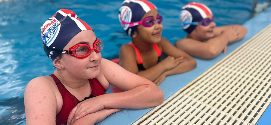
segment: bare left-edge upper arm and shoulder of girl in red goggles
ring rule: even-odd
[[[26,124],[55,125],[57,99],[48,80],[37,77],[31,80],[24,92]]]

